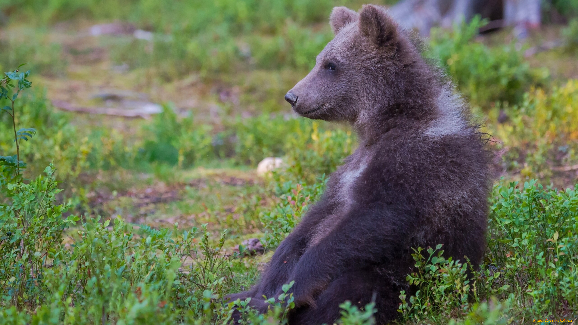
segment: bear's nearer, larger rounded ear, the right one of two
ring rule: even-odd
[[[377,47],[395,47],[397,44],[397,24],[384,10],[374,5],[364,5],[360,11],[359,25],[361,34]]]

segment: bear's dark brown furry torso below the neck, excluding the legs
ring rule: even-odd
[[[443,243],[448,256],[481,258],[490,154],[474,127],[442,135],[427,130],[416,125],[394,128],[355,150],[330,176],[327,199],[334,210],[321,228],[335,227],[352,209],[360,214],[387,209],[393,218],[413,224],[408,246]],[[387,216],[381,221],[384,226],[396,221]],[[465,241],[471,247],[461,245]]]

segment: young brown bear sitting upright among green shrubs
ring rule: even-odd
[[[309,119],[348,121],[359,147],[260,282],[230,297],[265,312],[262,297],[294,280],[290,324],[332,324],[342,302],[372,298],[387,323],[409,290],[412,248],[441,243],[446,257],[480,262],[491,157],[464,102],[385,9],[336,7],[330,23],[335,38],[285,98]]]

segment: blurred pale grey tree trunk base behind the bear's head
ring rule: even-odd
[[[490,20],[485,30],[513,26],[524,37],[528,28],[540,26],[540,0],[402,0],[390,8],[402,25],[428,35],[434,26],[451,27],[475,14]]]

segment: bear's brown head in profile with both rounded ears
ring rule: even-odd
[[[383,115],[388,106],[404,105],[400,98],[418,88],[408,82],[416,78],[407,67],[421,60],[406,32],[374,5],[358,13],[335,7],[329,22],[335,38],[318,54],[312,71],[285,95],[295,112],[358,124],[375,119],[377,111]]]

